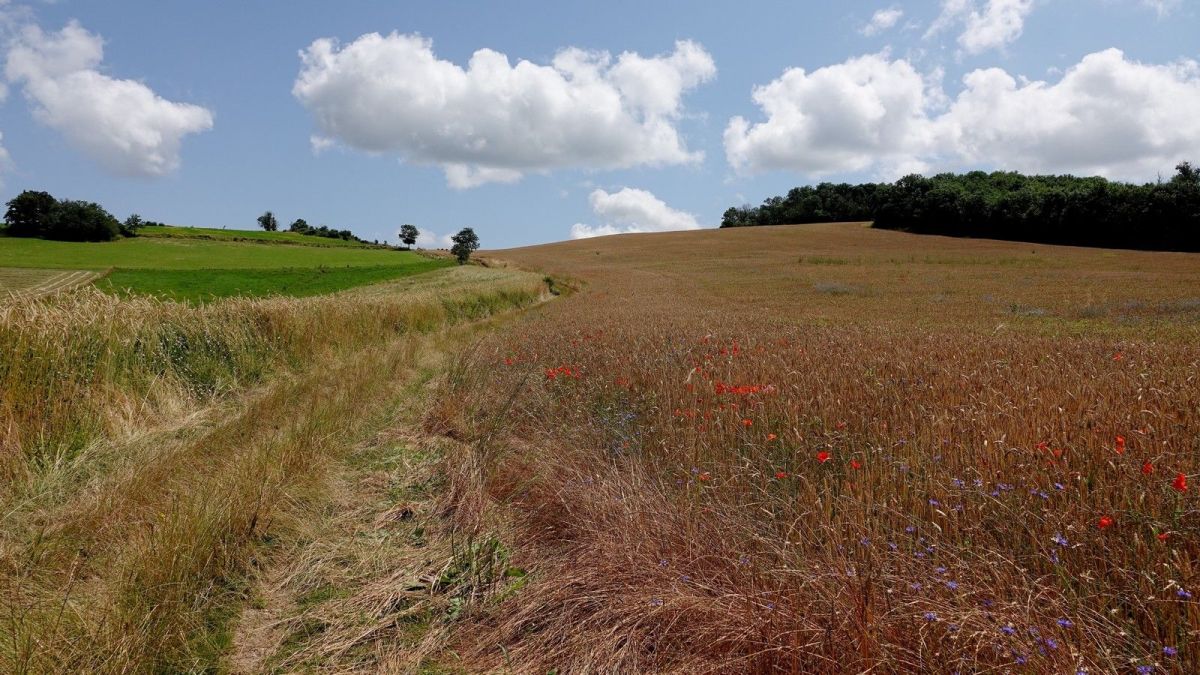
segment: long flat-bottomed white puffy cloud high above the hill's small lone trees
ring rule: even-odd
[[[317,40],[301,58],[293,94],[316,120],[318,145],[439,166],[455,187],[563,167],[700,161],[676,125],[683,95],[716,72],[686,41],[653,58],[570,48],[550,65],[480,49],[463,68],[430,40],[392,32],[346,46]]]

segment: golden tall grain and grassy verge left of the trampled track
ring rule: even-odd
[[[461,268],[204,307],[0,305],[0,670],[217,668],[264,551],[392,418],[418,346],[544,293]]]

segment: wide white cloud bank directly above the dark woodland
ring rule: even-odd
[[[766,121],[730,121],[734,168],[809,175],[995,166],[1147,179],[1200,156],[1200,65],[1154,65],[1117,49],[1085,56],[1056,83],[1001,68],[946,97],[905,60],[863,56],[756,89]]]

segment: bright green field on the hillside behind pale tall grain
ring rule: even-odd
[[[287,232],[149,227],[144,234],[107,243],[0,237],[0,268],[24,279],[23,286],[29,279],[53,276],[54,270],[112,270],[96,282],[98,288],[199,301],[317,295],[452,264],[410,251]]]

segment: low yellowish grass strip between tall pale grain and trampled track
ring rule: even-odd
[[[256,669],[230,661],[234,628],[264,574],[294,557],[281,551],[311,540],[314,513],[340,510],[346,467],[366,466],[360,450],[415,410],[406,401],[437,356],[529,301],[490,299],[503,294],[493,282],[468,307],[452,289],[474,276],[443,276],[450,294],[428,294],[458,307],[449,325],[416,321],[313,354],[302,371],[89,450],[76,462],[85,473],[52,467],[0,501],[0,670]],[[370,462],[395,461],[378,448]]]

